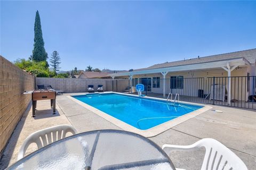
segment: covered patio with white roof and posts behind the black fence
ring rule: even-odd
[[[251,69],[250,62],[241,57],[158,69],[138,69],[110,74],[110,76],[113,80],[125,77],[129,79],[127,86],[130,87],[130,92],[133,94],[137,92],[135,85],[142,83],[146,89],[143,95],[147,96],[167,98],[170,94],[174,100],[175,94],[179,94],[182,101],[255,109],[253,95],[255,95],[256,77],[250,76],[250,74],[244,75]],[[232,74],[234,70],[236,72]],[[188,74],[193,72],[193,74],[188,75],[187,72]],[[194,72],[197,74],[194,75]],[[210,76],[209,72],[217,73],[215,73],[216,76],[214,74]],[[180,87],[177,87],[176,84],[173,86],[173,82],[176,83],[175,81],[178,79],[175,76],[180,79]]]

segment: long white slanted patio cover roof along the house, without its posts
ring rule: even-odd
[[[250,63],[244,58],[237,58],[235,60],[222,60],[216,62],[200,63],[200,64],[189,64],[189,65],[179,65],[172,67],[163,67],[159,69],[145,69],[131,72],[121,72],[109,74],[110,77],[119,77],[119,76],[129,76],[136,74],[150,74],[150,73],[162,73],[162,72],[177,72],[177,71],[191,71],[191,70],[202,70],[202,69],[217,69],[229,66],[242,66],[250,65]]]

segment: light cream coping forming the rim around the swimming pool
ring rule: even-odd
[[[103,93],[95,92],[94,94],[118,94],[118,95],[126,95],[126,96],[136,97],[136,96],[131,95],[131,94],[123,94],[123,93],[120,93],[120,92],[112,92],[112,91],[103,92]],[[79,95],[73,95],[73,96],[81,96],[81,95],[87,95],[87,93],[79,94]],[[150,129],[147,129],[147,130],[140,130],[140,129],[137,129],[137,128],[133,127],[130,124],[127,124],[127,123],[125,123],[121,120],[118,120],[118,118],[115,118],[115,117],[110,116],[109,114],[107,114],[105,112],[100,111],[99,109],[97,109],[95,107],[92,107],[92,106],[90,106],[86,103],[83,103],[83,101],[80,101],[80,100],[78,100],[74,97],[71,97],[71,96],[67,96],[67,97],[69,99],[75,101],[77,104],[85,107],[89,111],[93,112],[94,114],[97,114],[98,116],[104,118],[108,122],[113,123],[114,125],[118,126],[119,128],[121,128],[125,131],[138,133],[140,135],[143,135],[144,137],[154,137],[154,136],[156,136],[156,135],[158,135],[158,134],[160,134],[164,131],[167,131],[167,130],[171,129],[173,126],[176,126],[176,125],[178,125],[182,122],[185,122],[185,121],[189,120],[190,118],[193,118],[197,115],[200,115],[200,114],[202,114],[202,113],[204,113],[204,112],[206,112],[206,111],[208,111],[209,109],[212,108],[211,106],[208,106],[208,105],[202,105],[202,104],[196,104],[196,103],[189,103],[189,102],[185,102],[185,101],[179,101],[179,103],[182,103],[182,104],[190,104],[190,105],[203,106],[203,107],[197,109],[196,111],[193,111],[193,112],[187,113],[185,115],[179,116],[177,118],[174,118],[173,120],[164,122],[164,123],[159,124],[157,126],[154,126],[153,128],[150,128]],[[145,96],[143,98],[166,101],[166,99],[148,97],[148,96]]]

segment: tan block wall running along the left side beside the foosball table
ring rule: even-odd
[[[34,89],[32,75],[0,56],[0,156],[31,101],[31,95],[22,93]]]

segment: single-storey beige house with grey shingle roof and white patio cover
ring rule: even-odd
[[[132,87],[142,83],[148,92],[161,93],[164,98],[169,92],[198,96],[198,90],[201,90],[203,97],[215,95],[216,99],[219,95],[230,105],[233,99],[247,101],[250,95],[255,95],[255,61],[256,49],[249,49],[155,64],[109,76],[113,79],[126,77]]]

